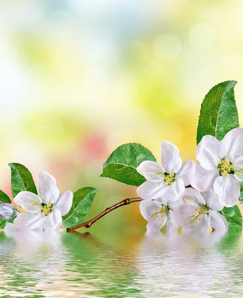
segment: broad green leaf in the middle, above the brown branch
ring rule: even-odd
[[[146,179],[137,172],[137,167],[145,160],[156,161],[156,158],[149,149],[140,144],[124,144],[110,154],[103,164],[103,173],[100,177],[108,177],[128,185],[139,186]]]

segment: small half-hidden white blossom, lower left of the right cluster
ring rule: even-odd
[[[176,206],[183,204],[182,199],[176,201],[166,200],[165,197],[156,199],[155,201],[141,201],[140,212],[148,221],[148,230],[160,230],[166,223],[166,232],[173,227],[178,229],[173,219],[173,210]]]

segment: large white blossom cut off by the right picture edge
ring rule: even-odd
[[[196,173],[192,187],[206,191],[214,188],[226,207],[237,204],[243,181],[243,129],[231,130],[222,141],[204,136],[198,144]]]

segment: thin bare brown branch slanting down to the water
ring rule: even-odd
[[[85,223],[82,223],[82,224],[77,224],[75,226],[72,226],[72,227],[68,227],[67,228],[67,232],[71,232],[71,231],[74,231],[75,229],[79,228],[79,227],[82,227],[82,226],[85,226],[85,227],[90,227],[92,224],[94,224],[95,222],[97,222],[99,219],[101,219],[103,216],[105,216],[107,213],[111,212],[112,210],[115,210],[116,208],[119,208],[121,206],[124,206],[124,205],[129,205],[131,203],[134,203],[134,202],[140,202],[140,201],[143,201],[142,198],[129,198],[129,199],[125,199],[111,207],[108,207],[105,209],[105,211],[103,211],[102,213],[100,213],[99,215],[97,215],[95,218],[93,218],[92,220],[88,221],[88,222],[85,222]]]

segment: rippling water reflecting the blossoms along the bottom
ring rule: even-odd
[[[0,233],[0,297],[242,298],[241,247],[230,234],[159,232],[119,252],[89,233]]]

